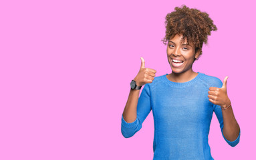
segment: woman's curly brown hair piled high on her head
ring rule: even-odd
[[[180,8],[175,7],[175,11],[168,13],[165,20],[166,35],[161,40],[164,45],[176,34],[182,35],[181,41],[184,42],[187,39],[188,44],[193,42],[195,52],[200,50],[199,56],[202,55],[203,42],[207,44],[207,36],[211,35],[211,31],[217,31],[209,14],[198,9],[189,9],[186,5],[182,5]]]

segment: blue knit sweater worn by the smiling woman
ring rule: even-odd
[[[122,135],[132,137],[152,110],[154,160],[212,160],[208,143],[211,119],[215,112],[223,135],[223,115],[221,107],[209,101],[208,91],[209,87],[221,88],[223,83],[217,77],[197,73],[197,77],[184,83],[170,81],[168,74],[146,83],[138,99],[136,120],[127,123],[122,117]],[[227,140],[224,135],[223,138],[235,147],[240,133],[235,141]]]

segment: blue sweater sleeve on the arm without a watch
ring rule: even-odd
[[[211,87],[219,87],[221,88],[223,85],[221,79],[218,79],[217,82],[215,82],[215,85],[211,86]],[[215,112],[215,115],[220,123],[220,127],[221,127],[221,134],[223,135],[223,127],[224,127],[224,124],[223,124],[223,115],[222,115],[222,109],[221,109],[221,106],[219,105],[215,105],[213,104],[213,111]],[[237,137],[237,139],[235,139],[235,141],[229,141],[227,140],[224,135],[223,135],[223,138],[225,139],[225,141],[227,141],[227,143],[231,146],[231,147],[235,147],[237,145],[237,143],[239,143],[239,140],[240,140],[240,133],[241,133],[241,129],[239,131],[239,135]]]

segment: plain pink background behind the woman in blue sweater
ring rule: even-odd
[[[1,1],[0,159],[152,159],[152,111],[126,139],[121,116],[140,69],[171,73],[164,18],[182,4],[218,30],[193,71],[227,80],[241,139],[231,147],[214,113],[214,159],[255,159],[253,1]]]

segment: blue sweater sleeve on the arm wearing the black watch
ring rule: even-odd
[[[146,83],[142,89],[142,93],[138,98],[137,104],[137,117],[136,120],[132,123],[128,123],[124,121],[124,117],[122,116],[121,123],[121,132],[122,135],[126,138],[132,137],[137,131],[142,128],[142,123],[148,116],[151,111],[150,104],[150,87],[149,84]]]

